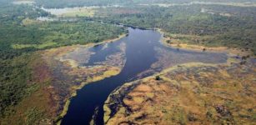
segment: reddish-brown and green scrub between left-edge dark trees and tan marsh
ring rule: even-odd
[[[50,119],[56,116],[57,108],[51,95],[50,82],[53,77],[50,69],[39,52],[34,54],[29,65],[33,68],[33,81],[28,83],[33,86],[30,90],[32,93],[12,107],[11,117],[1,118],[1,124],[51,124],[53,121]]]

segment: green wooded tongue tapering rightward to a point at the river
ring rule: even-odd
[[[51,22],[27,26],[3,25],[0,27],[2,36],[0,57],[6,59],[18,56],[22,52],[33,52],[38,49],[101,42],[118,37],[123,32],[125,32],[123,28],[112,24],[103,25],[91,22]]]

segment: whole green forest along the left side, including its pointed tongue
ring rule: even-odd
[[[126,29],[113,24],[41,22],[36,18],[49,13],[28,5],[5,2],[0,5],[0,116],[8,117],[24,97],[38,89],[33,82],[35,52],[118,37]],[[24,23],[26,21],[26,23]]]

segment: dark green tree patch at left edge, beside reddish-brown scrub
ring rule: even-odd
[[[0,109],[1,116],[8,115],[8,106],[15,106],[23,97],[28,96],[38,89],[38,84],[33,81],[31,63],[35,59],[31,54],[23,54],[13,59],[0,62]],[[5,113],[4,113],[5,112]]]

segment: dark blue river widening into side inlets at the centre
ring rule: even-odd
[[[109,54],[118,51],[117,48],[121,42],[126,44],[127,61],[117,76],[90,83],[78,90],[78,95],[71,98],[68,113],[63,117],[63,125],[89,124],[96,107],[98,107],[98,115],[94,118],[96,119],[95,123],[103,124],[103,104],[108,95],[123,83],[136,79],[139,73],[152,69],[152,64],[158,62],[159,57],[163,57],[164,62],[159,62],[158,67],[154,67],[153,70],[158,69],[159,71],[162,69],[162,64],[173,66],[185,62],[220,63],[227,60],[225,53],[193,52],[165,47],[159,42],[161,34],[153,30],[128,28],[128,31],[127,37],[123,37],[117,42],[108,43],[108,47],[105,49],[103,49],[104,44],[90,48],[90,51],[95,53],[83,65],[88,66],[93,65],[94,62],[104,61]],[[143,77],[152,74],[153,72],[146,73]]]

